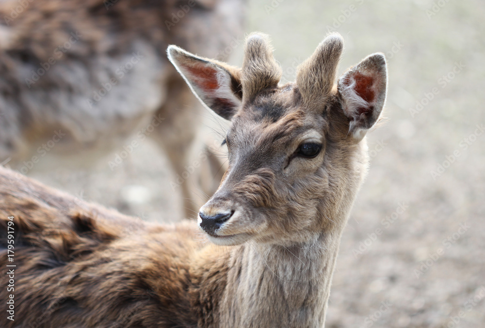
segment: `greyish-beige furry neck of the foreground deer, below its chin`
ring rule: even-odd
[[[234,250],[220,327],[323,327],[340,233]]]

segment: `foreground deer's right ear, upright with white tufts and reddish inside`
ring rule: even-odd
[[[343,112],[350,119],[349,133],[358,141],[377,122],[384,107],[387,76],[386,58],[375,53],[339,78]]]

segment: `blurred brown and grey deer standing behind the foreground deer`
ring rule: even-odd
[[[58,165],[89,165],[123,150],[138,133],[156,141],[174,176],[181,175],[202,111],[168,62],[166,48],[175,43],[226,59],[242,35],[244,2],[2,2],[0,162],[18,169],[24,160],[49,153]],[[42,147],[46,141],[55,147]],[[206,168],[217,168],[202,175],[211,174],[217,187],[224,170],[217,174],[221,163],[208,156]],[[183,180],[176,187],[186,216],[194,215],[193,180]],[[213,187],[202,187],[211,195],[215,189],[208,188]]]

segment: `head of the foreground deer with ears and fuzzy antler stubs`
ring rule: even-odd
[[[350,209],[366,171],[362,139],[384,106],[387,71],[384,56],[373,54],[336,88],[342,48],[339,35],[328,36],[296,82],[279,86],[265,35],[247,39],[242,69],[169,47],[194,94],[232,123],[228,170],[199,213],[211,241],[291,244],[343,224],[336,218]]]

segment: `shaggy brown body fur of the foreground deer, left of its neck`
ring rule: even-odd
[[[196,327],[189,295],[207,278],[191,272],[188,259],[202,245],[193,225],[153,226],[5,169],[0,184],[0,262],[16,265],[16,320],[3,315],[1,327]],[[14,263],[6,261],[8,216]]]

